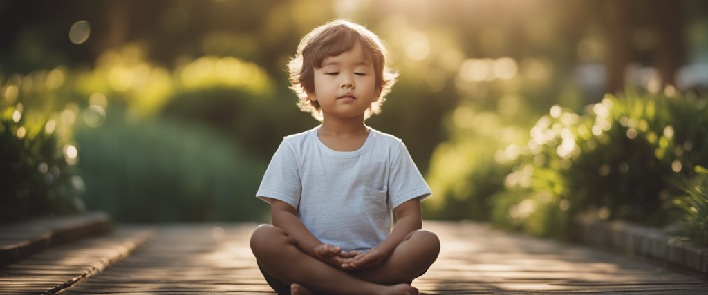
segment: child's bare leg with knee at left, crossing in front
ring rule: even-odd
[[[302,253],[282,229],[264,224],[251,235],[251,250],[263,269],[285,284],[327,294],[418,294],[409,284],[366,282]]]

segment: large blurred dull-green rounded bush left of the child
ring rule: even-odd
[[[77,127],[86,204],[119,221],[261,220],[266,163],[200,125],[156,117]]]

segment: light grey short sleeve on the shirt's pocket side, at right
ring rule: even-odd
[[[408,153],[406,145],[401,141],[399,141],[398,151],[394,152],[390,169],[388,188],[391,207],[399,207],[414,198],[423,202],[423,199],[432,194],[423,175],[418,171],[416,163],[413,163],[413,158]]]

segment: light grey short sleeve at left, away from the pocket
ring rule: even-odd
[[[287,139],[284,139],[265,170],[256,197],[268,204],[270,199],[278,199],[297,208],[301,192],[297,156]]]

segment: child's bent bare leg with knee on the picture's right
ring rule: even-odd
[[[439,253],[440,239],[435,233],[413,231],[381,265],[350,273],[377,284],[411,282],[438,259]]]

